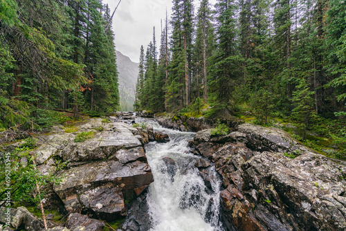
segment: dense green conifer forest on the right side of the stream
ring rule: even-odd
[[[161,46],[140,48],[137,110],[292,121],[345,148],[345,1],[173,4]]]

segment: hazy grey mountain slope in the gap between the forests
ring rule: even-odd
[[[133,111],[134,93],[138,77],[138,63],[116,50],[119,72],[120,107],[122,111]]]

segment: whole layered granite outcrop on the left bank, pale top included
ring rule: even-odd
[[[52,207],[60,201],[65,212],[106,221],[126,216],[129,203],[154,181],[143,146],[154,138],[152,126],[134,128],[93,118],[75,127],[74,133],[57,129],[37,148],[40,171],[55,169],[56,160],[66,163],[64,170],[56,172],[62,182],[53,187],[52,195],[59,199],[51,196],[44,205]],[[75,142],[80,131],[93,131],[93,138]]]

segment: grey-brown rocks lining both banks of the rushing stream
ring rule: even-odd
[[[63,225],[49,220],[48,230],[102,230],[104,221],[125,216],[122,230],[151,228],[145,192],[154,178],[144,145],[169,138],[155,134],[149,124],[134,128],[134,119],[131,113],[118,113],[113,122],[93,118],[75,124],[78,131],[73,133],[54,127],[39,139],[39,171],[63,176],[44,207],[68,217]],[[212,136],[212,125],[201,119],[191,118],[190,128],[183,120],[156,119],[167,127],[198,131],[190,147],[202,159],[194,166],[209,190],[215,181],[210,168],[221,178],[225,230],[346,230],[345,161],[317,154],[280,129],[235,121],[227,123],[228,135]],[[82,131],[93,131],[93,138],[75,142]],[[57,162],[66,167],[56,169]],[[4,230],[43,229],[42,219],[25,207],[11,214],[11,227]],[[5,223],[5,215],[0,208],[0,223]]]

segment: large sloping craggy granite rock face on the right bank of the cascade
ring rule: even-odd
[[[228,230],[346,230],[342,162],[313,153],[280,129],[252,124],[219,138],[199,131],[190,145],[222,176]]]

